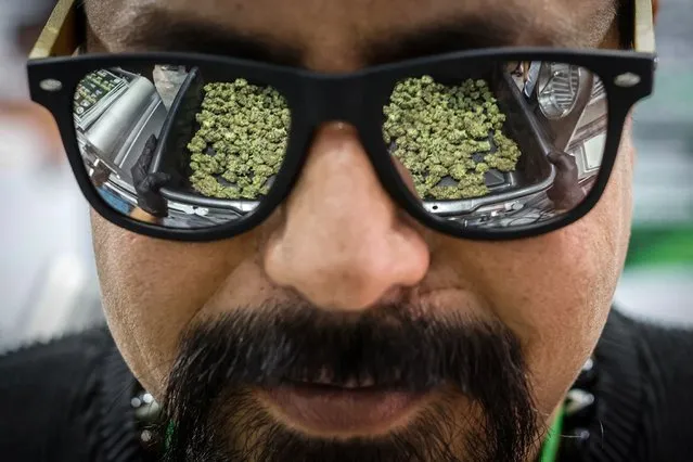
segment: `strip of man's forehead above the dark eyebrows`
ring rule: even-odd
[[[195,23],[311,56],[357,59],[372,43],[466,25],[503,44],[595,47],[616,0],[87,0],[91,31],[108,51],[132,48],[152,28]],[[396,43],[394,43],[396,44]],[[333,57],[334,61],[334,57]]]

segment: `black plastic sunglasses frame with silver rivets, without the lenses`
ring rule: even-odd
[[[540,224],[512,229],[464,229],[426,211],[407,188],[392,161],[382,136],[383,106],[395,85],[422,75],[459,73],[470,66],[491,63],[551,61],[574,64],[599,76],[607,95],[607,131],[602,166],[585,201],[576,208]],[[274,185],[257,208],[244,218],[213,228],[169,229],[124,216],[98,194],[84,167],[73,119],[74,94],[89,73],[112,67],[153,68],[155,64],[197,67],[216,78],[245,78],[271,86],[291,110],[288,145]],[[631,107],[652,94],[656,57],[653,53],[547,48],[483,49],[427,56],[396,64],[365,68],[346,75],[313,73],[217,55],[146,52],[88,54],[29,61],[31,99],[48,108],[57,126],[77,182],[90,205],[106,220],[129,231],[177,241],[215,241],[246,232],[267,219],[291,193],[308,156],[316,129],[324,123],[341,121],[358,130],[360,142],[383,188],[392,198],[424,226],[460,239],[499,241],[537,236],[566,227],[588,214],[601,197],[611,176],[625,120]]]

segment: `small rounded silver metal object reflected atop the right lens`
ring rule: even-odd
[[[580,90],[580,67],[564,63],[544,63],[539,73],[537,99],[548,119],[560,119],[574,108]]]

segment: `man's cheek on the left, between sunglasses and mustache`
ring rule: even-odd
[[[253,247],[243,239],[213,244],[150,239],[95,213],[92,229],[108,326],[138,380],[158,395],[180,333],[244,258],[243,249]]]

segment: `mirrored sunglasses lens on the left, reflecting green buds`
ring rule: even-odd
[[[110,207],[165,228],[251,215],[272,188],[291,113],[275,89],[198,68],[100,69],[75,93],[87,174]]]

